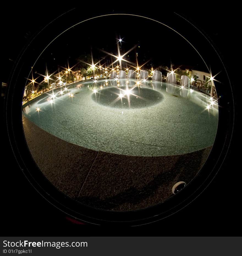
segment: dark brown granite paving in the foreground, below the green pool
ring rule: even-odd
[[[172,196],[178,181],[190,182],[211,147],[175,156],[140,157],[90,150],[42,130],[23,115],[35,162],[61,192],[89,206],[128,211]]]

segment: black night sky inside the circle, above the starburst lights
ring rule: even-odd
[[[144,18],[112,16],[86,21],[62,34],[43,53],[36,69],[41,69],[45,61],[52,72],[58,64],[65,66],[67,60],[73,66],[79,55],[90,54],[91,49],[97,60],[106,55],[98,49],[117,55],[116,38],[119,35],[124,41],[121,55],[137,45],[129,57],[125,57],[135,63],[138,52],[139,64],[151,59],[146,68],[150,68],[150,64],[169,66],[170,61],[190,65],[201,63],[199,55],[188,42],[171,29]],[[106,59],[110,60],[110,57]]]

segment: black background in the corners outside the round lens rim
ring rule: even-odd
[[[94,4],[95,6],[95,4]],[[81,7],[94,15],[121,12],[120,9],[110,9],[102,6],[92,8]],[[46,11],[47,8],[47,11]],[[102,9],[103,8],[103,9]],[[14,61],[31,38],[51,22],[55,17],[71,9],[63,7],[40,6],[3,6],[2,7],[2,82],[8,83]],[[158,8],[159,9],[159,8]],[[165,9],[165,8],[163,8]],[[193,9],[193,8],[192,8]],[[150,7],[150,11],[153,8]],[[207,9],[206,9],[207,10]],[[224,9],[199,13],[187,10],[178,12],[190,22],[200,28],[210,38],[226,64],[229,77],[235,90],[235,102],[238,104],[239,80],[234,77],[237,66],[237,55],[240,51],[236,24],[237,12],[234,9]],[[145,16],[145,12],[140,14]],[[146,10],[148,12],[149,9]],[[131,10],[129,10],[132,13]],[[139,8],[136,8],[136,13]],[[165,12],[165,11],[164,11]],[[154,12],[154,18],[159,13]],[[60,28],[63,30],[63,28]],[[122,35],[121,35],[122,38]],[[202,45],[200,45],[202,47]],[[169,61],[169,60],[168,60]],[[167,62],[167,60],[166,60]],[[175,62],[175,60],[174,60]],[[180,63],[179,63],[180,64]],[[3,106],[3,98],[2,98]],[[235,117],[238,118],[237,108]],[[237,119],[236,119],[237,120]],[[4,126],[5,127],[5,126]],[[192,203],[181,211],[166,219],[139,228],[133,228],[134,235],[229,235],[233,230],[239,232],[241,228],[240,161],[238,160],[238,126],[235,126],[230,150],[224,164],[215,179],[205,191]],[[1,134],[2,145],[2,235],[10,236],[68,236],[68,235],[105,235],[109,229],[97,228],[93,225],[82,225],[70,220],[64,212],[48,203],[28,180],[24,177],[15,161],[14,155],[4,129]],[[14,177],[14,178],[13,178]],[[137,232],[139,231],[139,233]],[[111,230],[112,235],[120,235],[119,230]],[[144,231],[140,233],[140,231]],[[137,232],[137,233],[136,233]],[[111,235],[111,233],[109,233]]]

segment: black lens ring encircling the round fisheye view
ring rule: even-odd
[[[66,15],[69,15],[70,13],[71,15],[73,15],[73,11],[71,12]],[[54,22],[59,22],[59,20],[55,20]],[[50,26],[53,26],[54,22],[50,24]],[[183,21],[180,21],[180,23],[182,22]],[[48,29],[48,27],[46,29]],[[93,209],[82,205],[82,214],[76,214],[76,212],[70,210],[70,208],[72,208],[72,206],[75,206],[76,211],[79,211],[79,203],[77,205],[76,202],[73,202],[73,200],[70,200],[67,196],[63,196],[62,193],[56,191],[53,185],[51,185],[50,182],[46,180],[46,178],[40,171],[33,172],[33,170],[36,170],[35,162],[33,160],[30,161],[30,159],[32,158],[29,156],[24,137],[20,136],[20,134],[23,134],[23,126],[21,120],[22,98],[20,98],[20,95],[23,95],[23,87],[21,87],[20,84],[23,81],[23,77],[26,76],[24,76],[23,74],[25,74],[26,66],[29,66],[29,63],[27,63],[27,61],[29,60],[30,55],[32,60],[35,58],[35,55],[32,54],[32,48],[34,45],[34,41],[38,40],[38,37],[41,35],[41,33],[33,39],[23,55],[20,56],[19,60],[16,62],[17,64],[13,71],[12,79],[9,83],[6,97],[7,101],[5,105],[7,129],[12,149],[15,152],[15,157],[25,176],[38,190],[38,192],[41,193],[48,201],[50,201],[62,211],[67,212],[68,214],[86,222],[98,224],[108,224],[116,222],[116,224],[121,225],[140,225],[147,222],[153,222],[155,220],[167,217],[168,215],[178,211],[186,204],[194,200],[194,198],[196,198],[214,178],[224,160],[224,157],[226,156],[227,150],[229,149],[230,139],[233,131],[234,105],[232,89],[228,86],[229,79],[228,77],[226,77],[226,73],[221,72],[222,74],[220,74],[220,76],[218,77],[218,80],[222,81],[222,84],[217,87],[217,93],[218,95],[221,95],[221,98],[219,99],[219,127],[214,147],[211,151],[208,161],[205,163],[199,175],[185,189],[183,189],[182,192],[160,205],[144,210],[134,212],[109,212]],[[211,45],[209,46],[211,47]],[[215,58],[218,58],[218,56],[216,56],[216,53],[214,53],[213,57],[210,57],[213,58],[213,63],[216,63]],[[220,71],[219,68],[221,68],[221,66],[222,65],[220,64],[218,67],[218,72]],[[211,165],[213,165],[213,168],[211,168]],[[44,187],[45,189],[43,189],[42,187]],[[196,192],[191,194],[191,191]],[[58,200],[56,201],[55,199],[60,197],[63,197],[62,203],[57,202]],[[65,206],[63,204],[65,204]],[[175,205],[174,208],[172,208],[173,205]],[[96,216],[98,216],[99,220],[97,220]],[[137,216],[139,216],[139,220],[136,220]]]

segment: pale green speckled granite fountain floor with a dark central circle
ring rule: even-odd
[[[58,138],[108,153],[168,156],[213,144],[218,114],[206,110],[205,95],[193,91],[186,98],[180,88],[145,82],[127,97],[127,81],[78,84],[56,94],[52,103],[49,95],[41,96],[24,109],[24,115]],[[129,90],[134,84],[129,81]]]

